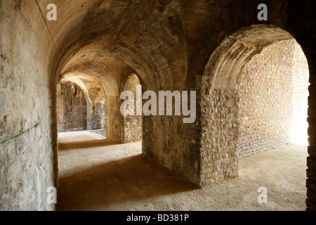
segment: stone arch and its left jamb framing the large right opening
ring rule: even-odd
[[[241,72],[263,49],[289,39],[291,34],[279,27],[253,25],[226,37],[211,54],[201,82],[202,186],[238,176]]]

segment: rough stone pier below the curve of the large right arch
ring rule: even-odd
[[[213,89],[202,99],[201,185],[238,176],[239,95]]]

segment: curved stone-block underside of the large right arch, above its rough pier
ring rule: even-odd
[[[271,25],[242,28],[225,38],[211,54],[203,81],[211,84],[213,89],[235,89],[240,71],[251,58],[270,44],[292,38],[288,32]]]

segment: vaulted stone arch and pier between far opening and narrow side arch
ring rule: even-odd
[[[104,114],[94,113],[95,110],[93,109],[93,104],[91,104],[91,120],[93,120],[93,115],[103,117],[103,124],[107,124],[107,126],[104,125],[103,127],[103,129],[106,128],[107,139],[124,143],[124,117],[120,112],[120,93],[124,91],[124,84],[128,76],[132,73],[136,74],[136,70],[133,70],[133,68],[121,62],[121,60],[103,60],[102,62],[98,62],[98,65],[93,65],[96,66],[96,70],[91,69],[93,66],[90,65],[90,63],[93,64],[96,62],[89,61],[89,65],[86,65],[86,62],[81,63],[80,60],[78,60],[79,63],[76,63],[76,60],[62,61],[64,63],[63,67],[58,69],[58,71],[62,71],[61,77],[67,77],[67,79],[78,84],[82,83],[82,80],[85,80],[86,82],[83,82],[84,84],[82,85],[86,86],[87,91],[88,86],[91,86],[92,83],[100,86],[101,91],[98,98],[103,101],[105,112]],[[96,61],[98,61],[98,58]],[[137,76],[143,89],[145,89],[145,82],[143,82],[138,73]],[[88,95],[91,96],[89,93]],[[90,101],[92,102],[93,100],[90,99]]]

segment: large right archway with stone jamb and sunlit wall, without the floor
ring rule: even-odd
[[[277,61],[271,61],[269,54],[253,59],[279,41],[286,41],[284,51],[276,54],[288,57],[283,58],[284,62],[291,58],[288,65],[275,65],[272,70]],[[294,46],[292,49],[290,43]],[[300,108],[295,104],[297,98],[304,98],[301,104],[305,106],[307,102],[307,96],[302,96],[306,95],[308,78],[303,78],[305,92],[298,95],[296,83],[300,75],[295,71],[284,75],[287,71],[284,68],[294,68],[290,64],[298,52],[296,46],[291,34],[284,30],[256,25],[227,37],[213,52],[202,78],[202,186],[239,176],[241,156],[289,143],[291,122],[297,119],[294,112]],[[284,56],[286,50],[289,54]],[[256,64],[260,57],[263,57],[261,62]],[[282,62],[282,58],[278,60]],[[264,68],[267,64],[270,69]],[[263,76],[262,72],[267,70],[270,71]],[[308,68],[304,71],[306,73]],[[306,115],[307,108],[303,110]]]

